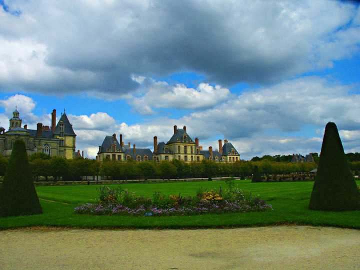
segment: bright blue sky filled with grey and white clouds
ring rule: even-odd
[[[0,0],[0,125],[65,110],[76,150],[153,149],[186,125],[240,158],[360,152],[360,12],[350,0]]]

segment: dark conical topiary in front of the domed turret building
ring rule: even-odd
[[[25,143],[17,139],[0,188],[0,216],[42,213],[32,181]]]

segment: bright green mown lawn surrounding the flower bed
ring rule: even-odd
[[[359,183],[359,181],[358,181]],[[204,228],[259,226],[280,223],[360,228],[360,211],[314,211],[308,209],[313,182],[260,182],[236,180],[237,187],[259,194],[274,210],[251,213],[194,216],[93,216],[73,212],[78,203],[94,201],[94,185],[37,186],[43,214],[1,217],[0,228],[25,226],[117,227],[117,228]],[[154,191],[183,196],[194,195],[199,187],[226,188],[224,181],[121,184],[136,196],[151,197]],[[119,185],[109,185],[115,188]],[[44,200],[46,199],[46,200]],[[51,200],[51,201],[48,201]],[[68,203],[68,204],[65,204]]]

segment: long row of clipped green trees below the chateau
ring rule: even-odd
[[[199,178],[251,176],[255,165],[262,174],[289,174],[307,172],[317,165],[315,162],[275,162],[263,159],[260,161],[240,160],[234,163],[222,163],[212,160],[202,162],[183,162],[177,159],[171,161],[142,161],[129,159],[126,162],[77,157],[65,159],[59,156],[48,156],[35,153],[29,156],[30,169],[33,177],[55,180],[78,180],[80,176],[101,175],[107,179],[149,179],[149,178]],[[360,162],[359,162],[360,163]],[[0,157],[0,175],[3,175],[7,165],[7,158]],[[360,166],[359,166],[360,168]]]

